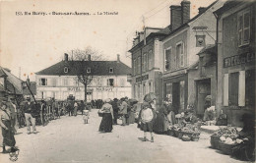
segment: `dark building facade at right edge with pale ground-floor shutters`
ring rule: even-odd
[[[227,1],[218,16],[217,107],[227,123],[242,126],[244,113],[255,115],[256,2]]]

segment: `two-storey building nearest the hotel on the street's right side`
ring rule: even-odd
[[[144,96],[155,92],[158,103],[161,99],[160,39],[165,35],[162,28],[145,27],[134,39],[133,47],[129,50],[132,56],[132,97],[143,102]]]

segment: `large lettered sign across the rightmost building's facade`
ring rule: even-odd
[[[241,65],[255,60],[255,53],[246,53],[224,58],[224,68]]]

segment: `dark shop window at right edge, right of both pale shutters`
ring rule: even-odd
[[[255,70],[245,72],[245,105],[255,108]]]

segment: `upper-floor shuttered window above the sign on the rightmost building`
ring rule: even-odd
[[[238,13],[237,18],[238,46],[250,43],[250,10]]]

